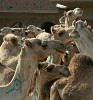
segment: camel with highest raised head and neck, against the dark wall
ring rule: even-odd
[[[54,25],[51,27],[51,33],[52,28],[55,28],[55,30],[60,30],[61,28],[64,28],[67,30],[70,26],[72,26],[72,22],[74,20],[79,20],[83,15],[83,11],[81,8],[75,8],[73,10],[64,11],[64,16],[62,16],[59,19],[60,24]]]

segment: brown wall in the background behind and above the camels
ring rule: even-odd
[[[22,26],[42,26],[46,22],[57,24],[63,16],[63,10],[55,7],[57,3],[69,9],[81,7],[84,11],[82,19],[93,26],[93,0],[0,0],[0,28],[17,22]]]

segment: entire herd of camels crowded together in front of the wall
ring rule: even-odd
[[[93,34],[83,11],[64,12],[51,33],[3,27],[0,100],[93,100]]]

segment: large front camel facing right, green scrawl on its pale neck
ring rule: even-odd
[[[38,48],[38,49],[37,49]],[[27,100],[31,79],[38,67],[38,62],[56,52],[65,52],[66,47],[57,40],[41,41],[26,39],[20,53],[12,80],[0,86],[0,100]]]

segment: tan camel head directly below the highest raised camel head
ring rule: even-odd
[[[55,40],[62,41],[63,44],[68,44],[69,42],[73,41],[73,37],[79,37],[78,33],[75,33],[73,36],[70,35],[70,33],[73,31],[72,28],[65,29],[64,27],[56,28],[55,26],[51,27],[51,32],[53,34],[53,38]]]

